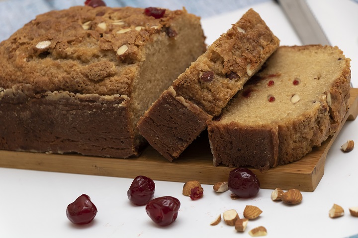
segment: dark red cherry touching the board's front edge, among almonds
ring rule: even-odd
[[[230,172],[228,186],[229,190],[237,196],[248,198],[258,194],[260,181],[251,170],[237,168]]]

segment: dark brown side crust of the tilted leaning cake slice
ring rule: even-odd
[[[211,117],[199,108],[193,112],[165,91],[141,119],[138,128],[159,153],[173,161],[206,128],[208,119]]]

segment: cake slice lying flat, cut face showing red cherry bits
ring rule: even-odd
[[[337,47],[278,48],[208,123],[214,165],[267,170],[301,159],[340,127],[350,80]]]

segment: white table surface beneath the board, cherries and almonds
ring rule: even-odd
[[[265,2],[253,7],[282,45],[300,45],[277,5]],[[210,44],[226,31],[246,10],[204,19],[207,42]],[[357,29],[355,24],[349,27]],[[335,39],[335,45],[342,49],[353,49],[346,55],[353,55],[356,46],[344,40],[342,46],[339,43]],[[352,71],[358,70],[356,61]],[[355,80],[354,84],[358,85]],[[271,201],[272,190],[268,189],[261,189],[254,198],[232,200],[229,191],[217,194],[212,185],[206,184],[203,184],[204,197],[191,201],[181,194],[183,183],[155,181],[155,197],[170,195],[181,202],[177,221],[164,228],[150,220],[144,206],[134,206],[128,201],[126,193],[132,179],[0,168],[0,237],[245,238],[250,237],[249,230],[258,226],[265,226],[267,237],[275,238],[349,237],[358,234],[358,218],[352,217],[348,209],[358,206],[358,148],[343,153],[340,146],[348,139],[358,143],[357,131],[358,121],[345,124],[327,155],[325,174],[318,187],[314,192],[302,192],[303,200],[295,206]],[[83,193],[91,197],[98,213],[89,225],[76,226],[67,219],[66,207]],[[343,217],[329,218],[328,211],[334,203],[345,209]],[[249,222],[243,234],[237,234],[234,227],[223,221],[217,226],[209,225],[218,214],[229,209],[236,209],[243,217],[246,205],[258,206],[263,213]]]

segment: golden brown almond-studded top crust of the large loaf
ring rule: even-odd
[[[143,11],[76,6],[37,16],[1,42],[0,87],[28,83],[34,93],[130,94],[146,58],[145,46],[166,36],[171,27],[175,31],[172,23],[184,13],[166,10],[155,19]],[[118,55],[122,46],[128,49]]]

